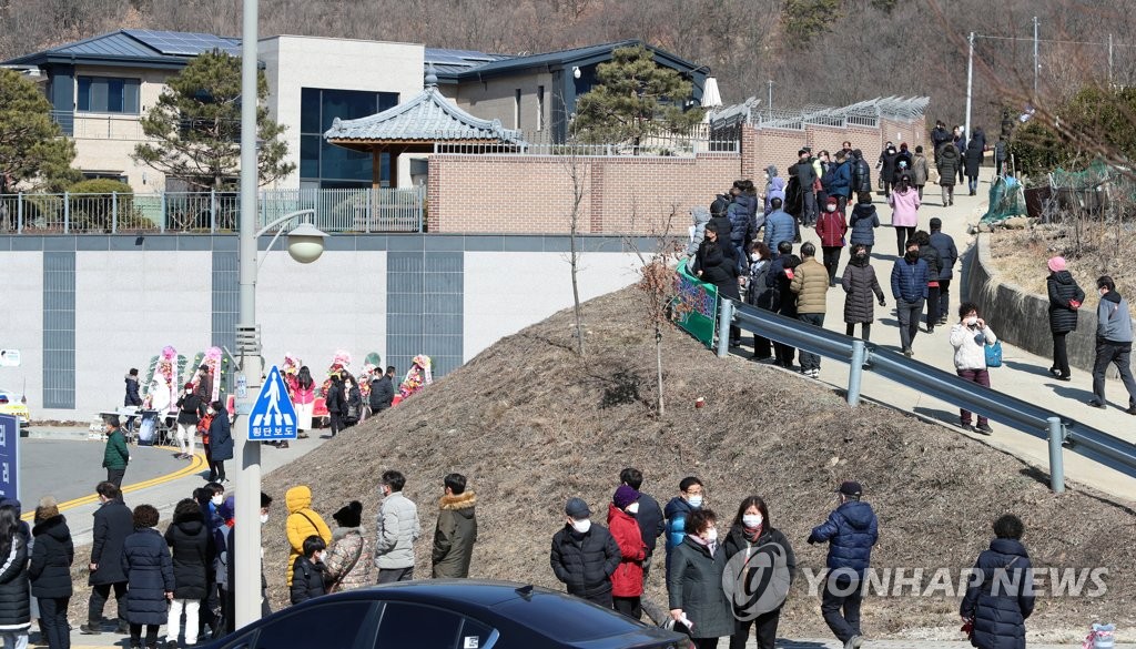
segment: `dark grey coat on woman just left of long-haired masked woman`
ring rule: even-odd
[[[667,575],[670,609],[680,608],[694,629],[692,638],[721,638],[734,633],[734,614],[721,588],[726,550],[710,548],[686,536],[675,548]]]

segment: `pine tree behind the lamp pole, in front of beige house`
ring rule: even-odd
[[[199,190],[235,190],[241,170],[241,59],[225,52],[199,55],[170,77],[158,102],[142,118],[153,143],[134,149],[134,159]],[[268,82],[257,78],[257,176],[260,184],[291,174],[286,128],[268,117]]]

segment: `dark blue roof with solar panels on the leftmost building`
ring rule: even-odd
[[[115,63],[126,61],[182,67],[189,59],[212,50],[241,55],[241,40],[192,32],[119,30],[25,55],[8,64]]]

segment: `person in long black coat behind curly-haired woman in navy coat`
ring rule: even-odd
[[[94,488],[99,497],[99,508],[94,511],[94,543],[91,546],[91,599],[87,602],[86,624],[81,625],[84,635],[102,632],[102,609],[115,590],[118,605],[118,633],[128,633],[126,624],[126,574],[123,572],[123,542],[134,533],[134,517],[131,508],[123,504],[122,494],[112,482],[100,482]]]

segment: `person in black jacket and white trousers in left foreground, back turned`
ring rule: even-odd
[[[176,647],[182,631],[182,611],[185,611],[185,644],[198,641],[198,613],[209,589],[207,567],[212,565],[209,529],[201,516],[201,508],[192,498],[174,507],[174,519],[166,529],[166,544],[174,561],[174,599],[169,602],[166,621],[166,646]]]

